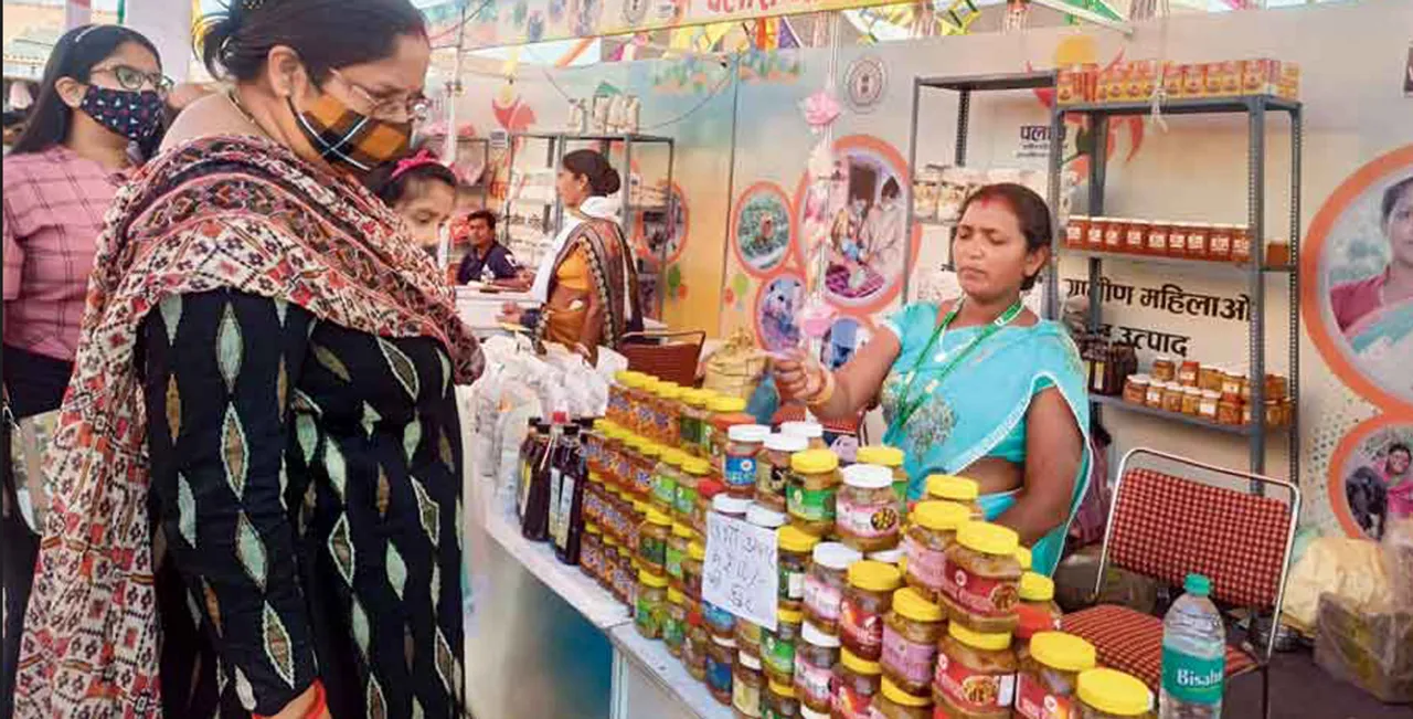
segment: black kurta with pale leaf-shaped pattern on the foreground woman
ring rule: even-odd
[[[164,301],[138,342],[167,716],[462,706],[461,432],[431,339],[235,291]]]

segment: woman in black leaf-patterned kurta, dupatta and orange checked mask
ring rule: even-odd
[[[23,716],[463,713],[479,347],[363,177],[431,45],[408,0],[235,0],[109,215],[57,432]]]

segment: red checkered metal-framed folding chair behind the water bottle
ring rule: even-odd
[[[1226,646],[1226,679],[1259,671],[1260,711],[1269,718],[1270,654],[1299,516],[1300,489],[1289,482],[1133,449],[1119,466],[1095,596],[1112,562],[1174,586],[1190,572],[1202,574],[1212,581],[1214,600],[1249,609],[1252,622],[1260,612],[1273,612],[1263,651],[1249,637],[1241,647]],[[1161,619],[1099,605],[1067,614],[1063,623],[1065,631],[1095,646],[1102,664],[1143,679],[1157,692]]]

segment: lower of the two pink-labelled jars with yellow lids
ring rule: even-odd
[[[926,696],[933,682],[937,643],[945,629],[942,607],[917,589],[893,592],[893,610],[883,617],[883,678],[907,694]]]

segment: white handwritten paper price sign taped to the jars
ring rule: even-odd
[[[702,599],[774,631],[779,592],[776,533],[742,520],[708,514]]]

